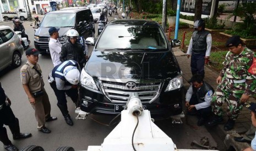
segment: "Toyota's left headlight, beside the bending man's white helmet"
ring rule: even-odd
[[[80,82],[83,87],[88,87],[88,88],[91,88],[94,90],[98,90],[98,88],[94,82],[94,79],[92,79],[91,75],[86,73],[84,69],[82,69],[82,71],[81,71]]]

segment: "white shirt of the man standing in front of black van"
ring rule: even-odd
[[[61,60],[59,60],[59,56],[60,56],[59,54],[61,54],[61,47],[62,45],[61,43],[59,43],[58,39],[50,38],[49,48],[50,48],[53,66],[57,66],[59,65],[59,63],[61,63]]]

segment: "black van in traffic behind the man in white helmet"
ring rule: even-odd
[[[67,31],[75,27],[80,36],[94,37],[94,19],[90,9],[77,8],[51,11],[43,18],[40,27],[35,32],[35,48],[40,54],[50,53],[48,43],[50,40],[49,28],[59,27],[59,42],[67,41]]]

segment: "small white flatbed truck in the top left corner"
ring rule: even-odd
[[[12,13],[2,13],[4,20],[11,20],[15,16],[17,16],[20,20],[28,19],[28,13],[26,12],[25,8],[18,8],[17,12]]]

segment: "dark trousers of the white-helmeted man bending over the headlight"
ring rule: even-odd
[[[55,95],[57,97],[57,106],[61,110],[63,117],[68,117],[68,106],[67,99],[65,93],[71,98],[71,100],[75,103],[75,106],[78,107],[78,88],[77,89],[69,89],[69,90],[58,90],[56,87],[56,82],[53,81],[50,83]]]

